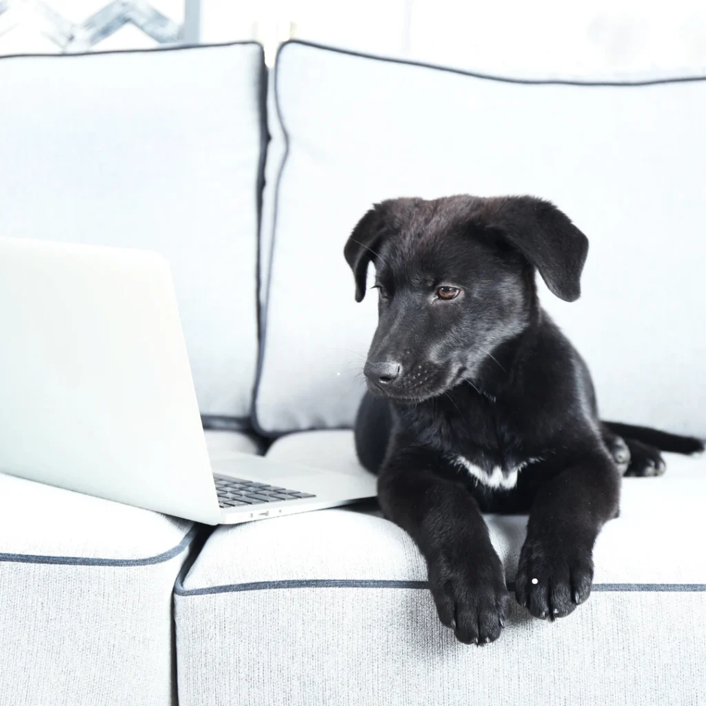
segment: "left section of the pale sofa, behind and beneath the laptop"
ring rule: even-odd
[[[213,457],[261,452],[265,80],[253,42],[0,59],[0,234],[169,259]],[[4,476],[0,508],[0,705],[176,702],[172,589],[200,528]]]

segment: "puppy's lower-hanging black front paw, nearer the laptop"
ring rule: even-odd
[[[429,587],[441,622],[467,645],[500,637],[508,614],[508,590],[500,560],[437,558],[429,564]]]

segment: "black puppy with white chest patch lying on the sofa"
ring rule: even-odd
[[[380,297],[358,455],[462,642],[496,640],[508,607],[481,511],[530,513],[517,601],[537,618],[566,616],[591,592],[621,474],[661,473],[657,446],[703,448],[599,420],[588,369],[534,283],[537,269],[557,297],[578,299],[587,251],[566,215],[530,197],[385,201],[345,246],[357,301],[371,261]]]

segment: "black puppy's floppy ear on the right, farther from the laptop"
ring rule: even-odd
[[[551,292],[564,301],[581,295],[588,239],[549,201],[532,196],[489,198],[486,223],[532,263]]]

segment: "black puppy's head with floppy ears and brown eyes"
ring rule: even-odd
[[[473,381],[494,350],[530,325],[535,268],[557,297],[575,301],[587,252],[585,235],[538,198],[376,204],[344,251],[357,301],[365,296],[369,263],[376,268],[369,389],[421,401]]]

